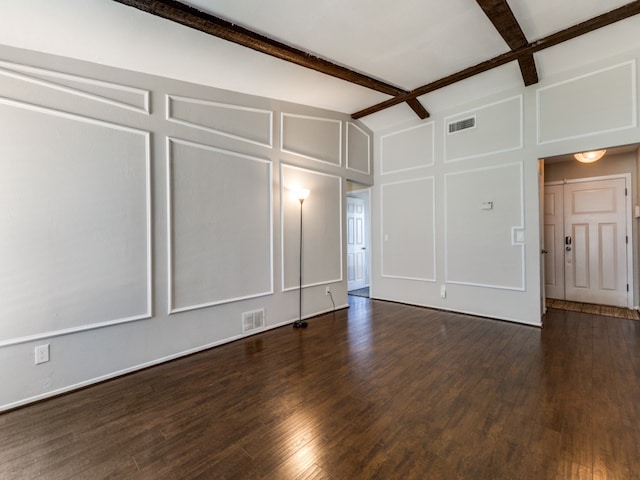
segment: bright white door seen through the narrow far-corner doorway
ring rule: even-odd
[[[367,286],[364,201],[347,197],[347,290]]]

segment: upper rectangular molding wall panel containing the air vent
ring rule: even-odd
[[[475,126],[449,133],[449,123],[475,118]],[[523,97],[506,98],[444,119],[445,163],[486,157],[523,147]]]

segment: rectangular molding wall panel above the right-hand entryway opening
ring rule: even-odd
[[[538,144],[634,128],[638,117],[636,61],[540,88],[536,108]]]

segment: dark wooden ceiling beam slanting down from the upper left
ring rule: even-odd
[[[171,20],[186,27],[199,30],[229,42],[251,48],[261,53],[287,62],[295,63],[316,72],[330,75],[347,82],[366,87],[387,95],[406,95],[409,92],[383,82],[376,78],[350,70],[341,65],[330,62],[308,52],[279,42],[247,28],[236,25],[228,20],[216,17],[190,5],[175,0],[114,0],[146,13]],[[420,118],[427,118],[429,112],[416,98],[410,98],[407,103]]]

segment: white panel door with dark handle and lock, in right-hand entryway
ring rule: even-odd
[[[625,179],[564,186],[566,299],[627,306]]]

